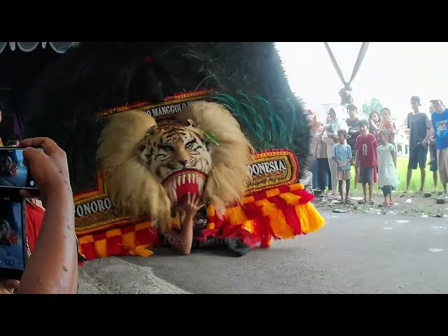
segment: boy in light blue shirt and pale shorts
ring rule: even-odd
[[[342,188],[342,183],[345,181],[345,202],[349,202],[349,190],[350,190],[350,179],[351,179],[351,160],[353,156],[351,155],[351,148],[346,144],[347,132],[346,130],[337,131],[337,140],[339,144],[333,148],[333,160],[337,163],[336,179],[339,183],[339,195],[341,195],[341,200],[344,200],[344,193]]]

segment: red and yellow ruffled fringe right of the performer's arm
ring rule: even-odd
[[[272,239],[307,235],[325,221],[310,203],[311,195],[300,183],[265,190],[228,207],[221,220],[209,207],[209,224],[200,240],[237,237],[251,247],[269,247]]]

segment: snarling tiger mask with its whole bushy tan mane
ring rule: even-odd
[[[237,120],[211,102],[190,104],[176,120],[158,124],[139,109],[116,113],[97,151],[114,206],[126,216],[148,215],[162,230],[171,228],[172,207],[186,190],[199,193],[218,215],[238,202],[251,179],[252,155]]]

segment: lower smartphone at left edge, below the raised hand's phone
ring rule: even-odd
[[[25,199],[0,198],[0,276],[22,277],[27,262]]]

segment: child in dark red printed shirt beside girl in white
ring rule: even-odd
[[[374,169],[377,167],[377,139],[369,132],[369,122],[360,120],[360,135],[356,137],[355,165],[359,167],[359,183],[363,186],[364,199],[367,202],[367,184],[369,185],[369,204],[373,204]]]

